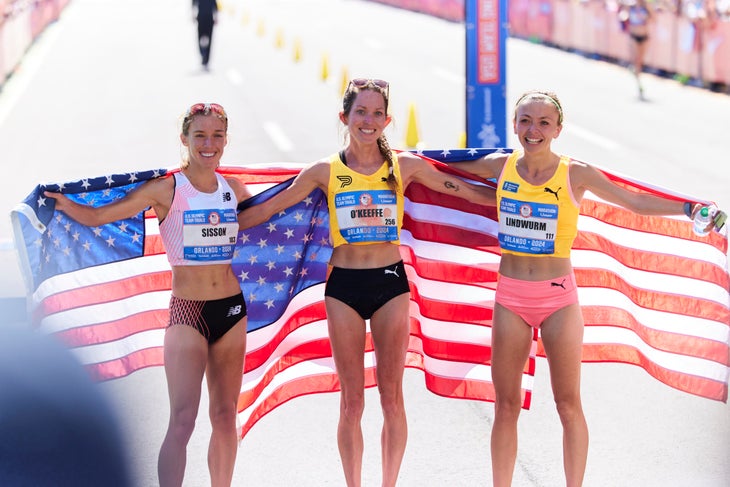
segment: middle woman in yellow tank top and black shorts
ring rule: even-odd
[[[346,147],[303,169],[275,197],[239,214],[240,227],[268,220],[319,188],[328,197],[334,250],[325,307],[332,353],[341,385],[337,442],[345,480],[361,485],[366,320],[370,320],[384,424],[383,486],[395,485],[406,446],[403,371],[409,337],[410,292],[399,251],[403,191],[411,182],[493,206],[494,190],[438,171],[410,153],[396,156],[383,131],[388,83],[354,79],[344,94],[340,121]]]

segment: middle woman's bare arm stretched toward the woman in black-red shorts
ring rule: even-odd
[[[302,169],[292,184],[281,193],[241,211],[238,214],[238,225],[241,229],[259,225],[275,213],[299,203],[316,188],[326,192],[328,181],[329,163],[327,161],[316,162]]]

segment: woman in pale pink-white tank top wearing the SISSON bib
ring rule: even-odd
[[[88,226],[128,218],[152,207],[160,222],[169,223],[182,234],[182,222],[166,221],[166,218],[183,218],[184,212],[171,212],[173,202],[196,195],[202,195],[198,199],[205,200],[205,195],[219,191],[221,182],[216,169],[227,143],[227,132],[228,117],[220,105],[198,103],[187,110],[180,133],[185,148],[180,169],[184,178],[180,180],[189,182],[184,185],[190,186],[187,189],[176,187],[176,177],[153,179],[125,198],[95,208],[75,203],[60,193],[47,192],[46,196],[55,200],[57,210]],[[229,196],[235,202],[251,196],[240,181],[226,178],[225,182],[224,190],[234,193]],[[210,204],[205,203],[203,208],[182,206],[190,211],[207,212],[211,225],[220,223],[217,216],[212,218],[219,214],[219,208],[209,208]],[[220,214],[230,211],[230,208],[224,208]],[[163,237],[166,244],[176,241],[174,235]],[[196,241],[192,245],[210,251],[217,243]],[[171,247],[175,248],[167,249],[170,252],[180,250],[176,245]],[[230,485],[238,446],[236,416],[246,351],[246,305],[226,255],[206,262],[181,257],[176,255],[171,259],[170,322],[164,341],[170,421],[158,459],[159,484],[163,487],[182,485],[186,447],[195,427],[205,375],[212,423],[208,451],[211,484]]]

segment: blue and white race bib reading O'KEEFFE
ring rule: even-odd
[[[398,240],[398,202],[392,191],[351,191],[336,195],[334,201],[347,243]]]

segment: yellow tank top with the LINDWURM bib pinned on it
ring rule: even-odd
[[[580,214],[570,188],[570,159],[561,157],[555,174],[546,183],[533,186],[517,173],[520,155],[521,151],[510,154],[497,184],[502,253],[570,257]]]

